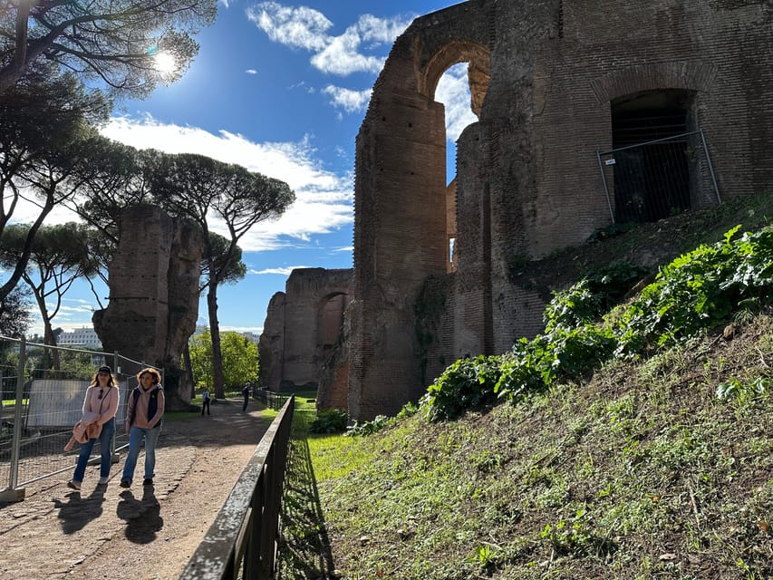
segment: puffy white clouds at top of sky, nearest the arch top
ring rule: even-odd
[[[246,14],[275,43],[312,52],[314,67],[323,73],[340,75],[381,71],[384,53],[414,18],[362,14],[343,34],[333,36],[328,34],[333,23],[314,8],[263,2],[249,8]]]

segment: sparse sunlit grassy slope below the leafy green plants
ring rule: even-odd
[[[773,577],[770,391],[716,393],[770,377],[773,315],[737,326],[458,421],[297,440],[280,577]]]

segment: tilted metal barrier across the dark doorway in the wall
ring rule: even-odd
[[[657,221],[720,203],[703,131],[597,150],[612,223]]]

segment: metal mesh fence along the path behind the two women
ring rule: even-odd
[[[125,402],[137,385],[135,373],[146,365],[118,353],[52,347],[0,336],[0,502],[21,501],[24,486],[74,469],[79,447],[66,453],[63,449],[72,435],[72,425],[82,417],[86,389],[102,364],[111,366],[121,396],[114,452],[128,444]],[[97,462],[100,454],[97,441],[90,462]]]

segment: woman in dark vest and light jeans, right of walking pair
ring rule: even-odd
[[[140,384],[131,391],[126,403],[126,434],[129,435],[129,453],[123,465],[121,488],[129,488],[134,468],[140,455],[140,444],[145,440],[145,479],[143,486],[153,485],[156,469],[156,443],[164,416],[164,390],[161,375],[156,369],[142,369],[137,373]]]

